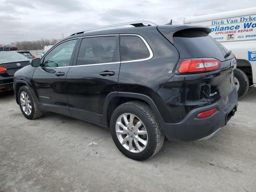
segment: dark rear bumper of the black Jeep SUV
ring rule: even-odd
[[[226,98],[222,98],[214,104],[192,110],[181,122],[175,124],[160,122],[160,125],[168,140],[193,141],[207,139],[227,124],[234,115],[237,106],[237,91],[234,88]],[[196,118],[198,113],[212,108],[217,108],[218,112],[208,118]]]

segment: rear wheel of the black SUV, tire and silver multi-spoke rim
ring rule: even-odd
[[[134,160],[151,158],[164,143],[159,122],[143,102],[132,101],[118,106],[110,119],[110,132],[120,152]]]

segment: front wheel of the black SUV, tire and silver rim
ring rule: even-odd
[[[27,119],[36,119],[43,115],[42,110],[38,107],[36,100],[30,92],[28,86],[22,86],[18,92],[20,110]]]

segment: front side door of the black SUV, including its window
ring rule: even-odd
[[[73,62],[77,41],[67,40],[55,46],[34,71],[33,82],[43,110],[70,115],[66,75]]]

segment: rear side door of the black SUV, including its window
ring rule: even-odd
[[[117,92],[119,36],[83,38],[74,62],[66,77],[70,113],[100,123],[106,96]]]

